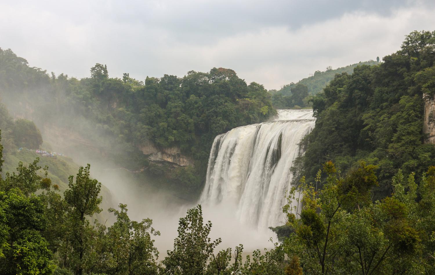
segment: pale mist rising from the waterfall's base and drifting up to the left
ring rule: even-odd
[[[5,93],[3,101],[15,118],[35,121],[43,136],[43,146],[69,156],[80,166],[90,163],[91,176],[101,182],[103,189],[107,188],[109,191],[103,196],[102,205],[119,209],[120,203],[126,204],[131,220],[152,219],[153,228],[161,233],[154,237],[155,245],[160,252],[160,258],[164,258],[166,251],[173,248],[179,219],[186,215],[187,209],[197,205],[199,197],[189,201],[173,190],[158,188],[152,179],[144,181],[138,173],[106,158],[104,147],[113,144],[112,138],[102,131],[95,132],[94,122],[77,113],[75,109],[67,112],[59,109],[51,115],[39,109],[42,107],[35,104],[41,102],[37,95],[41,90],[49,89],[49,86],[42,86],[30,92],[35,97],[27,101],[16,101],[14,97],[7,96],[13,94],[8,92]],[[57,94],[60,98],[67,98],[64,90],[58,90]],[[117,147],[111,149],[122,150]],[[272,248],[271,239],[273,242],[277,241],[276,234],[270,229],[260,230],[254,225],[241,222],[236,215],[237,205],[234,203],[203,205],[202,209],[204,222],[212,223],[210,238],[222,240],[218,250],[234,249],[242,244],[244,252],[250,253],[255,249]],[[114,221],[113,214],[103,209],[98,222],[110,226]]]

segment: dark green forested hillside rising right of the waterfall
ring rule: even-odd
[[[382,198],[402,169],[416,175],[435,164],[435,147],[424,144],[423,93],[433,93],[435,32],[413,32],[402,50],[376,66],[342,73],[313,99],[316,125],[305,138],[305,156],[295,171],[313,180],[321,163],[334,161],[341,171],[361,160],[379,167]]]

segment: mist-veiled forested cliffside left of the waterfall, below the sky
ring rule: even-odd
[[[89,147],[65,148],[67,152],[79,149],[88,159],[99,155],[131,170],[147,168],[145,173],[177,181],[191,191],[201,189],[215,136],[276,113],[262,85],[247,85],[233,70],[223,68],[190,71],[182,78],[147,77],[142,82],[127,73],[122,79],[110,78],[107,66],[97,63],[90,77],[77,80],[64,74],[49,76],[1,49],[0,68],[0,97],[13,116],[33,120],[41,130],[49,130],[48,137],[68,130],[84,140],[76,146]],[[35,144],[16,140],[17,146],[36,149],[40,139],[30,139]],[[140,150],[150,144],[158,149],[178,147],[193,164],[174,171],[174,166],[150,163]],[[177,179],[179,174],[183,180]]]

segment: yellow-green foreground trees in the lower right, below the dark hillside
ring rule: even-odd
[[[292,230],[284,251],[289,258],[298,258],[304,274],[435,272],[435,166],[423,173],[421,182],[415,181],[414,173],[406,178],[399,170],[391,196],[372,202],[376,169],[361,162],[342,176],[332,162],[326,162],[322,189],[305,179],[298,188],[301,196],[293,189],[284,206]],[[304,205],[300,214],[297,206],[291,207],[292,201]]]

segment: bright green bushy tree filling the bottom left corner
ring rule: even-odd
[[[0,273],[53,274],[52,252],[40,234],[47,226],[41,200],[18,188],[0,191],[0,219]]]

